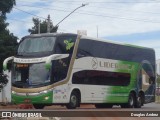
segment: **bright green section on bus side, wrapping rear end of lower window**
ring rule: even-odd
[[[126,68],[123,68],[122,66]],[[128,61],[119,61],[118,66],[121,66],[115,70],[115,72],[120,73],[130,73],[130,83],[128,86],[110,86],[110,89],[107,91],[107,96],[105,102],[107,103],[125,103],[128,100],[128,96],[131,90],[136,88],[136,79],[139,70],[139,63],[128,62]]]

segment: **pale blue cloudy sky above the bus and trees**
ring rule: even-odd
[[[16,0],[7,14],[8,29],[21,39],[29,35],[32,18],[50,15],[58,32],[87,31],[87,36],[150,47],[160,59],[160,0]]]

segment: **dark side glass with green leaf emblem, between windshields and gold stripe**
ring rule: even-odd
[[[76,37],[76,35],[60,35],[57,37],[55,54],[69,54],[69,57],[52,61],[52,82],[66,78]]]

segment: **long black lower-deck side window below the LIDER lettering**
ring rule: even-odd
[[[73,84],[127,86],[130,83],[129,73],[85,70],[73,74]]]

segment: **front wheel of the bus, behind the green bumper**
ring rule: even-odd
[[[78,107],[78,104],[79,104],[79,99],[78,99],[77,92],[73,91],[70,96],[70,101],[66,105],[66,107],[68,109],[75,109],[76,107]]]

